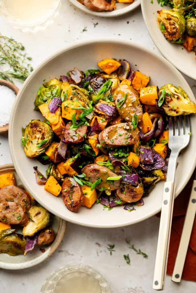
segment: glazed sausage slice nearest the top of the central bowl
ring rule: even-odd
[[[132,122],[134,114],[138,115],[138,122],[142,120],[142,105],[140,104],[138,93],[132,86],[129,86],[128,84],[120,84],[115,91],[114,98],[118,113],[123,120]],[[124,99],[125,101],[123,103]],[[121,103],[123,103],[122,106]]]

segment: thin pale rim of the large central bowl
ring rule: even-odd
[[[132,41],[125,41],[125,40],[119,40],[117,38],[109,38],[109,39],[105,39],[105,38],[100,38],[100,39],[93,39],[93,40],[85,40],[85,41],[80,41],[80,42],[75,42],[74,44],[71,44],[61,50],[58,50],[56,53],[53,53],[51,54],[49,57],[47,57],[46,59],[43,60],[43,62],[41,62],[41,64],[39,64],[32,72],[31,74],[28,76],[28,78],[26,79],[26,81],[24,82],[23,86],[21,87],[18,95],[17,95],[17,98],[14,102],[14,106],[12,108],[12,112],[11,112],[11,120],[10,120],[10,128],[9,128],[9,132],[8,132],[8,135],[9,135],[9,148],[10,148],[10,154],[11,154],[11,158],[12,158],[12,161],[14,163],[14,167],[16,169],[16,172],[18,174],[18,176],[20,177],[22,183],[24,184],[24,186],[29,189],[28,187],[28,184],[23,180],[23,177],[21,175],[21,172],[18,168],[18,165],[17,165],[17,161],[15,160],[15,156],[14,156],[14,149],[13,149],[13,144],[12,144],[12,128],[13,128],[13,116],[14,116],[14,109],[16,108],[16,105],[19,101],[19,98],[22,94],[22,92],[24,91],[24,89],[26,88],[27,84],[30,82],[30,80],[33,78],[34,75],[36,75],[37,71],[39,71],[43,66],[45,66],[48,62],[50,62],[52,59],[54,59],[55,57],[57,57],[58,55],[61,55],[69,50],[72,50],[76,47],[80,47],[80,46],[84,46],[84,45],[91,45],[91,44],[95,44],[95,43],[118,43],[120,45],[127,45],[127,46],[132,46],[134,47],[135,49],[141,49],[145,52],[147,52],[148,54],[152,55],[153,57],[156,57],[158,58],[161,62],[165,63],[167,66],[169,66],[170,68],[172,68],[172,71],[174,72],[174,74],[189,88],[190,92],[192,93],[192,100],[195,100],[195,96],[189,86],[189,84],[187,83],[187,81],[185,80],[185,78],[182,76],[182,74],[175,68],[174,65],[172,65],[167,59],[165,59],[162,55],[158,54],[158,53],[155,53],[153,51],[151,51],[150,49],[147,49],[146,47],[138,44],[138,43],[135,43],[135,42],[132,42]],[[184,182],[184,184],[181,186],[181,188],[178,190],[177,193],[175,193],[175,198],[180,194],[180,192],[185,188],[186,184],[188,183],[189,179],[191,178],[191,175],[193,173],[193,171],[195,170],[195,167],[196,167],[196,156],[194,158],[194,163],[193,163],[193,167],[191,168],[191,170],[189,171],[189,174]],[[32,193],[33,197],[35,197],[35,199],[37,198],[36,195],[34,193]],[[37,199],[36,199],[37,200]],[[39,202],[39,200],[37,200]],[[61,215],[58,214],[58,212],[55,212],[52,210],[51,207],[48,207],[46,204],[43,204],[43,207],[45,207],[48,211],[50,211],[51,213],[57,215],[58,217],[61,218]],[[156,209],[154,212],[149,212],[146,216],[143,216],[142,218],[140,219],[136,219],[136,220],[132,220],[131,222],[127,222],[126,224],[118,224],[118,225],[99,225],[97,224],[96,226],[91,224],[91,223],[81,223],[79,220],[76,221],[76,220],[72,220],[72,219],[69,219],[67,217],[63,217],[63,219],[65,219],[66,221],[68,222],[71,222],[71,223],[74,223],[74,224],[78,224],[78,225],[82,225],[82,226],[88,226],[88,227],[94,227],[94,228],[116,228],[116,227],[123,227],[123,226],[128,226],[128,225],[132,225],[132,224],[135,224],[135,223],[138,223],[138,222],[141,222],[145,219],[148,219],[152,216],[154,216],[155,214],[157,214],[158,212],[161,211],[161,206]],[[79,217],[78,217],[79,219]]]

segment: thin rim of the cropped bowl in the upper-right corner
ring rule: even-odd
[[[148,24],[148,21],[147,21],[147,15],[146,15],[146,13],[145,13],[145,8],[144,8],[144,3],[145,3],[144,1],[145,1],[145,0],[141,0],[142,15],[143,15],[143,19],[144,19],[145,25],[146,25],[146,27],[147,27],[147,29],[148,29],[149,34],[150,34],[150,37],[152,38],[152,40],[153,40],[155,46],[156,46],[157,49],[161,52],[161,54],[163,54],[163,56],[164,56],[164,57],[165,57],[170,63],[172,63],[172,65],[174,65],[178,70],[180,70],[180,72],[182,72],[182,73],[185,74],[186,76],[188,76],[188,77],[190,77],[190,78],[196,80],[196,75],[194,76],[194,75],[190,74],[189,71],[186,71],[186,72],[185,72],[185,70],[180,66],[180,64],[175,64],[175,62],[173,62],[173,60],[172,60],[172,57],[170,57],[170,55],[167,54],[167,52],[165,51],[164,46],[162,45],[162,43],[157,42],[157,40],[156,40],[156,36],[153,34],[153,31],[152,31],[152,29],[151,29],[151,27],[150,27],[150,25]],[[149,3],[150,3],[150,2],[149,2]],[[166,39],[165,39],[165,41],[168,42]],[[193,59],[193,61],[194,61],[194,59]]]

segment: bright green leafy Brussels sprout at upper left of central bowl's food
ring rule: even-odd
[[[38,93],[34,102],[35,110],[38,110],[40,105],[49,103],[53,97],[60,96],[61,84],[62,81],[58,80],[57,78],[45,82],[43,86],[38,89]]]

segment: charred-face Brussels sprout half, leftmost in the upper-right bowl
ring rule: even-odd
[[[182,35],[185,32],[186,21],[184,16],[178,11],[162,9],[157,11],[158,26],[170,42],[183,43]]]

